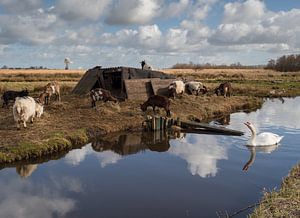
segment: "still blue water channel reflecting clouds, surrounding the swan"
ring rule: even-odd
[[[281,144],[247,148],[246,121],[260,132],[283,135]],[[256,112],[219,122],[245,135],[115,134],[59,160],[2,169],[0,217],[232,214],[257,202],[264,188],[280,187],[300,160],[300,98],[268,100]]]

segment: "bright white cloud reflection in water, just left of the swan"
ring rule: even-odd
[[[218,145],[213,135],[189,134],[183,140],[171,140],[170,143],[169,152],[186,160],[192,175],[215,176],[217,161],[228,158],[226,147]]]

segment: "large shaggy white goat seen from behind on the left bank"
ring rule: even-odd
[[[41,117],[43,110],[44,106],[37,103],[32,97],[17,97],[13,106],[13,115],[17,128],[20,129],[21,123],[26,128],[26,122],[30,119],[31,123],[33,123],[33,118],[35,116]]]

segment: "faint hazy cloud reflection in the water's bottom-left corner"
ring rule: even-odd
[[[14,178],[0,182],[0,187],[0,217],[61,217],[75,207],[74,200],[47,186]]]

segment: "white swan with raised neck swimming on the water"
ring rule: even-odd
[[[251,138],[248,141],[248,145],[251,146],[276,145],[283,138],[283,136],[279,136],[271,132],[263,132],[256,135],[256,129],[252,123],[246,122],[244,124],[250,129],[252,133]]]

